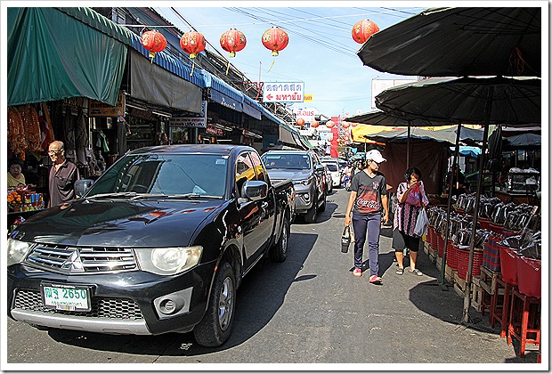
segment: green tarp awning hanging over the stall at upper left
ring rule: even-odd
[[[128,30],[88,8],[14,7],[7,19],[9,106],[81,96],[117,103]]]

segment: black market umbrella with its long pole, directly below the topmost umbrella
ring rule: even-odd
[[[379,93],[375,100],[380,110],[401,116],[458,120],[459,123],[483,125],[482,155],[485,154],[490,124],[525,126],[541,122],[540,78],[531,77],[461,77],[429,78],[409,85],[398,85]],[[471,275],[474,261],[475,232],[483,186],[483,159],[474,207],[472,238],[464,297],[463,321],[468,322]],[[448,222],[448,221],[447,221]],[[447,231],[448,232],[448,231]],[[446,248],[445,248],[446,250]],[[445,252],[446,253],[446,252]],[[443,254],[443,265],[445,256]]]

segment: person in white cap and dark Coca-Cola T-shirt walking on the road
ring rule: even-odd
[[[378,172],[379,164],[385,162],[378,150],[366,154],[366,165],[362,171],[353,175],[351,195],[345,213],[345,226],[353,219],[354,231],[354,271],[353,275],[362,275],[362,255],[368,230],[369,282],[381,284],[379,270],[379,232],[381,224],[389,220],[387,204],[386,177]],[[353,213],[353,215],[351,215]],[[383,215],[382,215],[383,214]]]

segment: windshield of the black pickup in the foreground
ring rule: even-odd
[[[221,155],[129,155],[93,183],[86,197],[136,192],[223,197],[228,159]]]

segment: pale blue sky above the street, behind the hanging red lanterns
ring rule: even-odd
[[[199,7],[199,4],[207,7]],[[314,101],[290,107],[314,107],[330,117],[372,110],[371,82],[374,78],[412,78],[363,66],[356,55],[361,45],[353,40],[351,30],[363,19],[372,20],[384,29],[426,8],[414,7],[419,3],[410,2],[377,3],[381,7],[369,7],[369,4],[375,3],[179,2],[155,9],[183,32],[191,30],[186,21],[190,23],[207,38],[207,49],[223,53],[252,81],[258,80],[259,69],[264,82],[303,81],[304,93],[313,93]],[[283,28],[289,36],[288,46],[275,58],[261,43],[264,30],[272,26]],[[229,28],[241,30],[248,41],[247,46],[231,59],[219,44],[221,35]],[[272,69],[267,72],[273,59]]]

